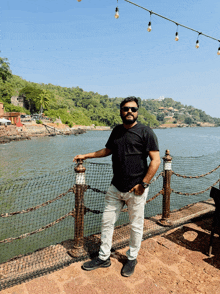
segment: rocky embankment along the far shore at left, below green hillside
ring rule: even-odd
[[[66,125],[25,124],[22,127],[14,125],[0,126],[0,144],[11,141],[30,140],[32,137],[56,135],[79,135],[85,133],[82,128],[69,128]]]

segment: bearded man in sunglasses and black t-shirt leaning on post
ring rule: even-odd
[[[144,207],[149,183],[160,165],[157,138],[147,126],[137,123],[138,100],[128,97],[120,104],[123,124],[116,126],[106,143],[106,147],[96,152],[77,155],[78,159],[99,158],[112,154],[113,179],[105,197],[102,218],[101,246],[99,257],[85,262],[83,269],[93,270],[111,265],[110,253],[114,224],[124,204],[128,207],[130,221],[130,242],[127,262],[121,274],[129,277],[137,264],[144,225]],[[147,166],[147,157],[151,162]]]

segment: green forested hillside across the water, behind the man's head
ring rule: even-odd
[[[11,104],[11,97],[25,100],[25,108]],[[125,97],[123,97],[125,98]],[[44,112],[52,119],[60,118],[69,126],[104,125],[115,126],[121,123],[119,105],[121,97],[109,98],[94,92],[86,92],[79,87],[60,87],[52,84],[28,82],[13,75],[6,58],[0,58],[0,102],[5,111],[19,111],[26,114]],[[212,118],[193,106],[182,105],[172,98],[142,100],[138,120],[151,127],[167,121],[173,124],[197,124],[201,122],[220,125],[220,119]]]

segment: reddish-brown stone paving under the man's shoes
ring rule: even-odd
[[[109,268],[87,272],[81,269],[83,262],[73,263],[1,294],[220,294],[217,234],[213,255],[207,255],[211,224],[209,216],[143,241],[135,272],[129,278],[120,274],[128,249],[124,248],[112,253]]]

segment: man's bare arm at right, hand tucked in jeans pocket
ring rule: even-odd
[[[160,153],[159,151],[149,151],[149,157],[151,159],[151,162],[148,167],[148,171],[143,178],[143,182],[148,184],[150,183],[160,166]],[[141,184],[138,184],[134,186],[129,192],[133,191],[136,195],[142,195],[144,193],[144,187]]]

